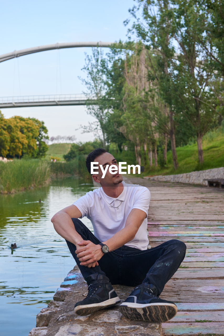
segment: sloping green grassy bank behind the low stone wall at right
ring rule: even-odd
[[[179,168],[174,170],[172,161],[172,152],[167,152],[167,164],[158,167],[145,167],[144,176],[148,175],[172,175],[189,173],[196,170],[206,170],[224,166],[224,134],[222,130],[209,132],[203,139],[204,163],[198,163],[197,144],[188,144],[177,148],[177,159]],[[160,157],[159,157],[160,156]],[[158,163],[162,153],[158,155]],[[162,160],[161,160],[162,161]]]

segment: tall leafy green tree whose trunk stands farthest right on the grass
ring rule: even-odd
[[[206,67],[207,54],[200,44],[204,34],[202,24],[209,18],[203,7],[195,1],[175,0],[174,16],[176,29],[174,39],[178,43],[179,53],[173,63],[173,82],[177,95],[174,103],[179,105],[197,136],[198,161],[204,162],[202,138],[217,122],[215,97],[209,83],[213,70]],[[200,19],[197,13],[200,12]]]

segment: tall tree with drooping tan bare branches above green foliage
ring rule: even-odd
[[[141,43],[137,43],[133,53],[127,54],[125,60],[123,132],[134,142],[136,159],[139,164],[141,164],[139,150],[142,146],[144,151],[147,147],[148,151],[153,148],[155,165],[157,165],[156,138],[158,138],[158,134],[153,131],[150,119],[148,92],[151,83],[148,81],[146,63],[145,48]]]

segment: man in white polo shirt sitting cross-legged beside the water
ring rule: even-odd
[[[120,305],[125,317],[159,323],[172,319],[176,305],[159,295],[184,259],[185,244],[170,240],[147,250],[149,190],[126,184],[119,172],[115,173],[117,161],[104,149],[98,148],[87,156],[89,173],[91,162],[98,162],[104,171],[110,167],[104,177],[101,169],[92,175],[101,188],[90,191],[51,219],[88,285],[86,298],[75,304],[76,313],[87,315],[119,303],[112,285],[122,284],[135,287]],[[78,219],[84,216],[91,220],[94,235]]]

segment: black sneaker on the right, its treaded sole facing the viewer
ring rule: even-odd
[[[154,285],[144,283],[133,289],[119,310],[131,320],[162,323],[176,315],[177,306],[160,299]]]

